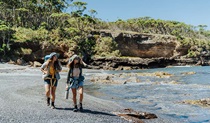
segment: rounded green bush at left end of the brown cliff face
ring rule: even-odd
[[[95,47],[96,56],[100,57],[111,57],[120,56],[119,50],[116,50],[117,43],[110,37],[100,38]]]

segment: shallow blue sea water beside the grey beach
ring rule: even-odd
[[[155,113],[163,118],[186,123],[210,122],[210,108],[181,103],[184,100],[210,98],[210,67],[171,67],[133,71],[100,71],[101,73],[167,72],[170,78],[139,76],[140,83],[124,85],[86,83],[86,93],[112,100],[137,111]],[[184,72],[195,72],[183,75]],[[97,73],[92,73],[97,74]],[[173,83],[177,82],[177,84]]]

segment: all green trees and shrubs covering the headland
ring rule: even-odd
[[[10,48],[14,42],[49,42],[76,45],[76,52],[90,56],[121,56],[114,39],[100,35],[90,38],[91,32],[98,30],[172,35],[181,45],[190,47],[188,57],[210,50],[210,31],[206,25],[151,17],[106,22],[96,18],[100,13],[88,9],[87,4],[75,0],[1,0],[0,54],[14,53]]]

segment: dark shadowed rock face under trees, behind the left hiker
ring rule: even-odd
[[[66,62],[65,59],[70,57],[69,46],[65,43],[52,44],[48,42],[15,42],[11,45],[12,60],[16,61],[18,58],[24,59],[26,62],[39,61],[43,62],[44,56],[51,52],[57,52],[60,54],[62,62]],[[31,53],[24,53],[21,49],[30,49]],[[18,53],[17,53],[18,52]]]

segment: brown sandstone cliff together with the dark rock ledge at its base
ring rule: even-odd
[[[102,69],[129,70],[170,65],[195,65],[199,58],[185,58],[190,46],[182,46],[174,36],[133,32],[100,31],[117,42],[122,58],[94,58],[91,65]]]

